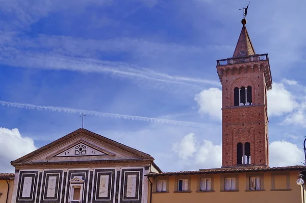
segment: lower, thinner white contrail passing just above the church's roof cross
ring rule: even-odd
[[[188,122],[188,121],[179,121],[179,120],[170,120],[163,118],[152,118],[152,117],[143,117],[143,116],[132,116],[132,115],[124,115],[124,114],[114,114],[114,113],[104,113],[99,111],[90,111],[84,109],[71,109],[66,107],[52,107],[52,106],[38,106],[32,104],[22,104],[22,103],[12,103],[5,102],[0,100],[0,105],[7,107],[15,107],[20,109],[29,109],[29,110],[45,110],[45,111],[53,111],[53,112],[64,112],[69,114],[76,113],[85,113],[87,115],[92,116],[103,116],[108,118],[120,118],[125,120],[137,120],[137,121],[145,121],[145,122],[156,122],[156,123],[165,123],[165,124],[173,124],[173,125],[182,125],[193,128],[205,128],[205,124],[197,123],[197,122]]]

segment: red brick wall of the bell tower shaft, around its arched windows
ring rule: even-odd
[[[259,64],[261,63],[261,64]],[[241,64],[240,64],[241,65]],[[250,143],[251,165],[268,166],[268,117],[264,67],[252,62],[218,67],[222,74],[222,166],[237,166],[237,144]],[[220,69],[223,70],[220,71]],[[252,87],[252,105],[234,106],[234,88]]]

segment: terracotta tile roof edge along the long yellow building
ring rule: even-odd
[[[233,172],[257,172],[257,171],[277,171],[277,170],[302,170],[305,166],[284,166],[284,167],[265,167],[265,166],[249,166],[249,167],[231,167],[231,168],[212,168],[212,169],[200,169],[194,171],[177,171],[177,172],[163,172],[154,173],[151,172],[148,176],[160,176],[160,175],[187,175],[187,174],[204,174],[204,173],[233,173]]]

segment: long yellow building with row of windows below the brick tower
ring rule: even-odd
[[[151,173],[149,203],[301,202],[296,184],[304,166],[232,167]]]

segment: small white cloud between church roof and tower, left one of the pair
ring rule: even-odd
[[[194,134],[190,133],[186,135],[181,142],[176,142],[172,145],[172,150],[182,159],[187,159],[193,156],[197,150],[197,143],[194,138]]]

